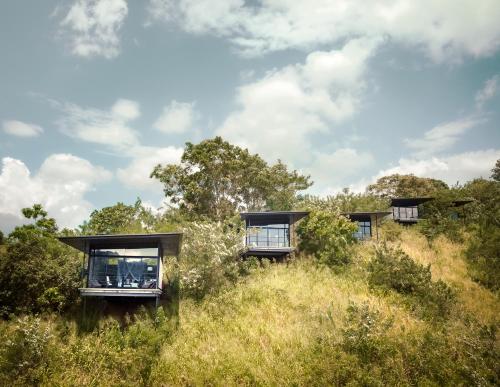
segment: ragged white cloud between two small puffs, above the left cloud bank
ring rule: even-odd
[[[109,111],[54,103],[65,113],[58,121],[60,129],[71,137],[107,145],[118,151],[139,144],[137,132],[128,126],[130,121],[140,116],[137,102],[119,99]]]

